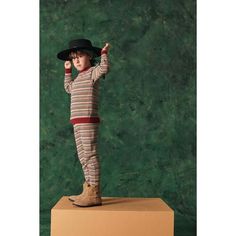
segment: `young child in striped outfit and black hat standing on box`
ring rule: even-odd
[[[99,129],[98,91],[99,78],[108,72],[109,44],[101,49],[93,47],[88,39],[76,39],[69,43],[69,49],[57,54],[65,61],[64,87],[71,94],[70,122],[74,127],[74,136],[78,158],[82,165],[85,182],[80,195],[70,196],[76,206],[96,206],[102,204],[100,193],[100,164],[97,153],[97,135]],[[101,56],[100,65],[93,65],[93,59]],[[72,80],[72,63],[79,71]]]

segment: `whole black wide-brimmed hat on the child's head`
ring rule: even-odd
[[[92,43],[88,39],[75,39],[69,42],[69,48],[63,50],[57,54],[57,58],[63,61],[69,61],[69,55],[71,52],[77,50],[86,50],[93,53],[93,57],[101,56],[101,48],[93,47]]]

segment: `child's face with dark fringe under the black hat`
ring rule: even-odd
[[[74,67],[78,71],[82,71],[85,68],[91,66],[90,60],[92,59],[92,57],[84,52],[81,52],[81,51],[72,52],[70,54],[70,57],[72,58],[72,62],[73,62]]]

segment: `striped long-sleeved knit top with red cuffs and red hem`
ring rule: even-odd
[[[70,121],[75,124],[78,120],[87,120],[85,123],[99,122],[99,78],[108,72],[107,53],[102,52],[101,63],[81,71],[72,80],[71,70],[66,70],[64,88],[71,94]]]

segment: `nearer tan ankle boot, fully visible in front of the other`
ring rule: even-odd
[[[85,194],[77,198],[74,202],[74,205],[81,207],[89,206],[99,206],[102,205],[101,193],[99,185],[90,185],[88,184]]]

